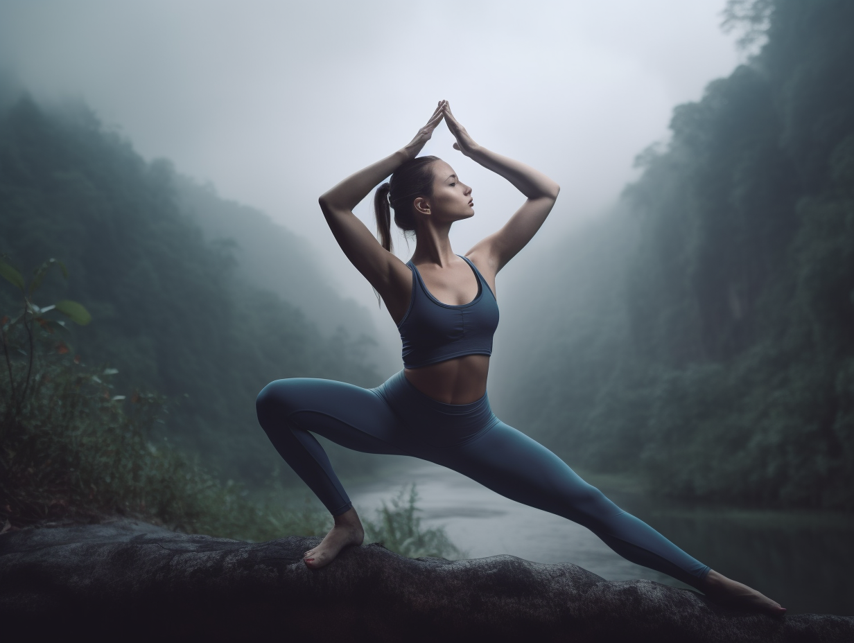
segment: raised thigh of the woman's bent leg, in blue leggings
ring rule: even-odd
[[[400,420],[373,389],[292,377],[267,384],[257,406],[259,417],[273,414],[291,430],[310,431],[354,451],[409,454]]]

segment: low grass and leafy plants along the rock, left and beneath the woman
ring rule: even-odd
[[[0,319],[0,525],[2,531],[57,519],[97,522],[114,514],[204,533],[255,541],[284,534],[322,535],[330,517],[315,503],[300,509],[273,479],[262,492],[211,476],[159,435],[169,412],[162,395],[134,390],[114,395],[114,368],[86,366],[65,340],[64,314],[86,325],[77,301],[38,306],[34,295],[57,260],[45,261],[26,280],[0,260],[0,277],[19,291],[20,308]],[[275,476],[274,476],[275,477]],[[292,494],[291,494],[292,495]],[[403,488],[365,520],[366,537],[405,556],[459,554],[444,529],[424,529],[415,485]]]

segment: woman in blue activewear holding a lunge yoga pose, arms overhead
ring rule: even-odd
[[[511,219],[465,256],[453,254],[448,231],[474,215],[471,188],[435,156],[418,157],[445,120],[453,148],[498,173],[527,198]],[[384,178],[374,206],[380,243],[353,208]],[[486,393],[492,337],[498,325],[495,275],[539,230],[558,197],[551,178],[483,148],[439,102],[406,147],[345,178],[320,197],[320,208],[344,254],[383,298],[401,331],[403,371],[376,389],[325,379],[269,383],[258,395],[258,419],[285,461],[317,494],[335,524],[305,553],[318,569],[364,531],[314,435],[365,453],[430,460],[525,505],[591,529],[630,561],[662,571],[712,598],[773,614],[785,610],[761,593],[721,576],[655,529],[622,511],[554,453],[504,424]],[[395,224],[414,233],[415,253],[392,252]]]

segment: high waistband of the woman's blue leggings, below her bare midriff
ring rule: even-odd
[[[413,439],[435,447],[471,441],[499,422],[487,394],[468,404],[447,404],[416,389],[403,371],[373,391],[410,427]]]

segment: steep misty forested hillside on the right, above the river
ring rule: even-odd
[[[854,3],[744,6],[762,50],[674,110],[616,213],[521,259],[492,393],[570,465],[851,510]]]

